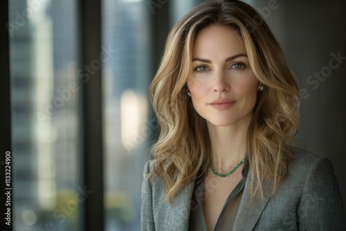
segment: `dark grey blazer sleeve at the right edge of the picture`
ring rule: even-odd
[[[299,230],[346,230],[343,200],[329,159],[318,158],[311,165],[297,214]]]

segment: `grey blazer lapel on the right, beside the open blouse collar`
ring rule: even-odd
[[[242,200],[240,201],[239,210],[233,224],[233,230],[253,230],[266,203],[271,197],[273,182],[266,180],[262,185],[263,196],[256,193],[251,199],[250,194],[250,172],[246,179]]]

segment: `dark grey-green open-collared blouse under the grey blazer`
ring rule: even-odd
[[[233,223],[235,222],[235,217],[239,209],[240,200],[242,199],[244,186],[247,177],[247,167],[244,165],[242,169],[242,180],[235,186],[234,190],[230,192],[224,207],[221,210],[219,219],[215,225],[215,231],[219,230],[232,230]],[[194,183],[194,192],[192,194],[191,200],[191,210],[190,210],[190,231],[206,231],[206,221],[203,216],[203,188],[204,179],[206,178],[206,173],[201,175],[196,179]]]

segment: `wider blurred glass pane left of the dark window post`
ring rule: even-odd
[[[14,230],[80,230],[75,1],[9,3]]]

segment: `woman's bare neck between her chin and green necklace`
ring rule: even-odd
[[[251,120],[242,124],[217,127],[209,122],[208,131],[212,148],[212,165],[221,172],[228,172],[246,154],[247,133]]]

